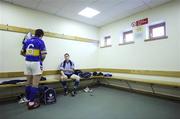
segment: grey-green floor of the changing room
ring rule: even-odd
[[[76,97],[58,95],[57,103],[28,111],[23,104],[0,104],[0,119],[180,119],[180,103],[97,87]]]

